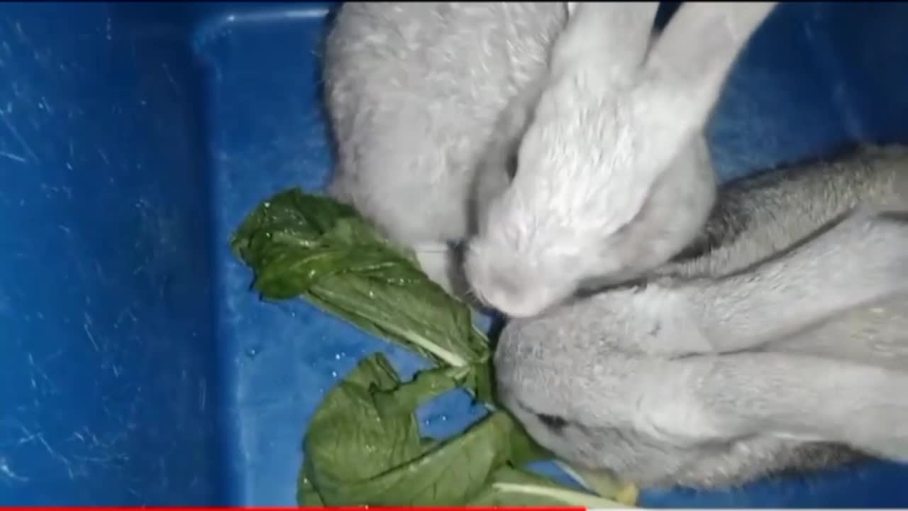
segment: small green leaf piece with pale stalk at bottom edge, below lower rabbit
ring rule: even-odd
[[[627,507],[613,500],[569,489],[542,476],[504,466],[466,506]]]

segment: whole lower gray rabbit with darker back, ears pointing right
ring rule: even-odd
[[[541,445],[640,486],[908,462],[908,149],[727,185],[686,253],[513,320],[495,364]]]

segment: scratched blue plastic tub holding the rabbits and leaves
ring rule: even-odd
[[[232,258],[262,199],[324,185],[327,5],[0,4],[0,504],[292,505],[325,390],[375,350]],[[908,5],[785,4],[710,134],[724,177],[908,142]],[[424,414],[453,432],[476,411]],[[908,427],[908,425],[893,425]],[[646,506],[908,506],[885,464]]]

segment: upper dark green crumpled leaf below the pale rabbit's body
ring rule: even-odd
[[[370,334],[435,364],[489,359],[469,307],[429,280],[412,255],[391,245],[346,205],[293,189],[257,207],[232,239],[262,296],[301,296]]]

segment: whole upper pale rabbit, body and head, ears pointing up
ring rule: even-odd
[[[773,5],[685,5],[649,52],[657,2],[346,3],[324,55],[329,193],[514,316],[657,266],[706,221],[699,134]],[[477,231],[464,275],[450,247]]]

